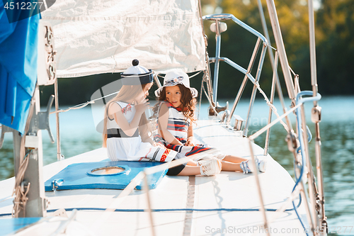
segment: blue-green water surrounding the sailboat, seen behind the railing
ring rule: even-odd
[[[229,101],[233,101],[230,99]],[[286,101],[286,105],[290,104]],[[220,102],[224,105],[224,101]],[[338,96],[323,98],[319,102],[322,107],[322,121],[320,123],[322,139],[322,158],[324,172],[324,189],[326,197],[326,215],[329,220],[329,231],[341,233],[338,235],[353,235],[354,229],[354,96]],[[230,104],[231,108],[232,104]],[[246,118],[249,102],[240,101],[236,112],[242,118]],[[275,103],[279,113],[282,108]],[[309,128],[314,135],[314,125],[310,122],[309,111],[312,103],[305,107]],[[256,132],[266,125],[268,118],[268,106],[263,100],[256,100],[252,112],[249,134]],[[101,147],[101,134],[96,131],[96,124],[103,114],[100,107],[91,109],[83,108],[60,114],[60,130],[62,142],[62,154],[66,158],[73,157],[82,152],[88,152]],[[207,105],[202,105],[200,118],[207,117]],[[263,117],[263,118],[262,118]],[[274,116],[273,116],[274,117]],[[292,117],[295,124],[295,118]],[[55,132],[55,116],[50,117],[52,133]],[[295,128],[295,125],[293,125]],[[44,164],[50,164],[57,160],[57,145],[50,142],[47,131],[42,131]],[[277,124],[271,130],[269,153],[282,167],[293,176],[292,154],[287,150],[285,142],[286,131],[282,125]],[[265,135],[261,135],[255,141],[264,147]],[[314,140],[310,142],[312,163],[314,159]],[[4,146],[0,150],[0,180],[13,176],[13,150],[12,135],[6,133]],[[348,226],[348,228],[345,228]],[[346,233],[343,233],[346,229]],[[334,235],[334,234],[333,234]]]

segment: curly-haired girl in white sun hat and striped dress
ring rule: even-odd
[[[222,159],[224,171],[251,173],[248,159],[224,155],[215,148],[195,144],[192,123],[195,122],[195,97],[198,91],[190,87],[188,74],[179,70],[167,73],[164,86],[157,89],[155,95],[161,101],[154,107],[154,112],[158,113],[158,134],[154,137],[156,142],[185,156],[205,152],[205,157],[196,165],[202,165],[210,159]],[[256,161],[258,170],[264,172],[265,162]]]

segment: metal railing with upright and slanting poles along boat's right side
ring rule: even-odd
[[[310,3],[311,2],[311,3]],[[268,125],[266,125],[264,128],[261,130],[258,130],[257,133],[251,135],[249,137],[249,142],[251,145],[251,140],[254,140],[254,138],[258,137],[258,135],[261,135],[261,133],[267,131],[266,136],[265,136],[265,148],[264,148],[264,155],[268,155],[268,149],[269,149],[269,139],[270,139],[270,128],[278,122],[281,122],[284,128],[287,130],[288,133],[288,147],[290,147],[290,151],[293,152],[294,158],[295,158],[295,166],[296,167],[301,167],[295,168],[295,174],[297,178],[297,183],[295,184],[295,188],[299,185],[300,190],[299,192],[302,194],[303,198],[306,199],[304,201],[305,208],[307,210],[307,218],[309,219],[309,225],[312,230],[312,233],[314,235],[326,235],[326,230],[323,230],[324,228],[327,228],[327,223],[326,223],[326,216],[324,213],[324,190],[323,190],[323,176],[322,176],[322,168],[321,168],[321,142],[320,142],[320,136],[319,136],[319,122],[321,120],[321,107],[317,105],[317,101],[321,98],[321,96],[317,93],[317,84],[316,84],[316,69],[315,67],[315,55],[314,55],[314,21],[313,21],[313,6],[312,6],[312,1],[309,1],[309,16],[310,16],[310,21],[309,21],[309,28],[310,28],[310,42],[312,42],[312,47],[311,47],[311,55],[312,55],[312,87],[313,91],[301,91],[299,89],[299,78],[298,75],[293,72],[295,75],[294,82],[292,81],[292,77],[290,74],[291,68],[289,67],[289,64],[287,62],[287,56],[285,53],[285,48],[284,48],[284,43],[282,42],[282,35],[280,33],[280,26],[278,22],[278,17],[276,15],[276,10],[275,10],[275,5],[274,2],[271,0],[267,0],[267,6],[268,6],[268,11],[270,13],[270,21],[272,21],[272,26],[273,26],[273,32],[275,34],[275,41],[277,43],[277,46],[280,48],[280,50],[275,50],[275,56],[273,57],[273,51],[271,50],[273,47],[268,45],[269,42],[269,36],[268,32],[265,33],[266,38],[262,35],[259,35],[259,33],[256,30],[253,30],[249,26],[245,26],[244,23],[240,23],[238,19],[236,19],[234,16],[230,14],[217,14],[217,15],[208,15],[204,16],[203,20],[210,20],[210,21],[215,21],[217,25],[217,30],[216,30],[216,56],[210,58],[210,62],[215,62],[215,74],[214,74],[214,86],[213,86],[213,91],[214,91],[214,103],[217,102],[217,82],[218,82],[218,67],[219,67],[219,62],[227,62],[227,64],[231,65],[235,69],[237,69],[239,72],[242,72],[245,74],[243,82],[239,88],[238,93],[236,94],[236,98],[234,100],[234,106],[232,107],[232,111],[230,113],[226,114],[226,121],[225,124],[229,126],[230,121],[232,119],[233,113],[236,109],[237,104],[239,103],[239,100],[241,98],[241,95],[243,94],[244,88],[246,86],[246,82],[250,80],[253,83],[253,91],[251,94],[251,99],[250,99],[250,105],[249,105],[249,111],[247,113],[247,118],[246,118],[246,125],[244,128],[243,136],[246,137],[248,133],[248,128],[249,128],[249,123],[250,123],[250,118],[251,118],[251,112],[253,109],[253,103],[254,99],[256,96],[256,91],[257,89],[263,94],[265,97],[265,100],[267,101],[268,106],[270,106],[270,111],[268,114]],[[262,19],[262,24],[263,24],[263,29],[265,30],[265,18],[264,18],[264,13],[263,13],[263,8],[261,6],[261,1],[258,0],[258,7],[259,11],[261,13],[261,19]],[[232,62],[232,60],[229,60],[226,57],[220,57],[219,51],[220,51],[220,45],[221,45],[221,37],[220,37],[220,32],[218,30],[219,28],[219,21],[226,21],[232,19],[234,22],[238,23],[241,27],[245,28],[248,30],[250,33],[253,33],[253,35],[256,35],[258,37],[258,40],[256,42],[256,45],[253,49],[253,54],[251,56],[251,60],[249,62],[249,66],[247,69],[239,66],[239,64],[236,64],[235,62]],[[266,31],[265,31],[266,32]],[[259,47],[261,47],[261,41],[263,41],[263,47],[261,51],[261,57],[258,62],[258,69],[256,73],[256,78],[254,78],[251,75],[251,70],[254,65],[256,55],[258,53]],[[270,91],[270,100],[268,100],[267,96],[265,96],[264,92],[261,90],[259,87],[259,78],[261,74],[261,69],[263,67],[263,61],[265,57],[265,50],[268,48],[268,52],[270,55],[270,61],[272,62],[273,66],[273,80],[272,80],[272,87]],[[274,48],[273,48],[274,49]],[[278,58],[280,58],[280,63],[282,65],[282,71],[284,73],[285,77],[285,83],[287,85],[287,91],[289,94],[290,99],[292,99],[292,108],[290,111],[287,111],[284,105],[284,99],[282,96],[282,91],[280,88],[280,82],[278,78]],[[291,70],[292,71],[292,70]],[[203,86],[202,86],[203,87]],[[278,96],[280,98],[280,102],[282,103],[282,108],[284,111],[284,114],[282,116],[279,116],[278,113],[276,113],[276,109],[273,106],[273,101],[274,101],[274,96],[275,96],[275,89],[278,90]],[[312,93],[312,94],[311,94]],[[309,96],[312,95],[312,98],[307,98],[307,99],[302,99],[302,96]],[[315,123],[315,128],[316,128],[316,143],[315,143],[315,152],[316,152],[316,173],[317,173],[317,183],[318,187],[316,186],[316,181],[314,178],[314,172],[312,170],[312,163],[311,159],[309,158],[309,147],[307,142],[304,142],[303,140],[307,140],[307,132],[303,132],[302,130],[307,130],[307,125],[305,122],[305,115],[304,115],[304,106],[303,103],[305,101],[313,101],[314,103],[314,108],[312,108],[312,122]],[[212,103],[210,102],[210,106],[212,106]],[[278,116],[276,120],[271,122],[272,120],[272,114],[273,112]],[[290,122],[289,114],[292,113],[293,111],[296,112],[296,122],[297,122],[297,134],[295,135],[293,129],[292,129],[292,124]],[[224,114],[224,115],[225,115]],[[222,116],[223,120],[225,116]],[[286,119],[287,125],[282,122],[282,118]],[[297,147],[297,142],[300,143],[299,147]],[[295,148],[297,147],[297,148]],[[251,148],[251,146],[250,146]],[[254,161],[253,157],[253,150],[251,150],[251,156]],[[298,155],[301,155],[302,159],[299,160]],[[305,183],[302,181],[302,176],[304,175],[304,167],[308,167],[309,173],[308,175],[308,190],[305,185]],[[256,180],[257,184],[259,184],[258,181],[258,175],[256,174]],[[294,188],[294,191],[295,191]],[[259,191],[259,196],[260,200],[262,202],[261,205],[263,205],[263,200],[262,200],[262,195],[261,195],[261,189],[260,186],[258,186],[258,191]],[[309,191],[309,193],[307,193]],[[292,196],[293,197],[293,196]],[[264,212],[264,206],[262,206],[263,209],[263,217],[265,220],[265,227],[268,225],[266,215]],[[301,221],[301,218],[299,218]],[[317,231],[315,229],[320,228],[321,230]]]

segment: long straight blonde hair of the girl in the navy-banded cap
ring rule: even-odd
[[[151,84],[151,83],[149,83]],[[147,84],[138,84],[138,85],[123,85],[118,94],[108,101],[105,105],[105,113],[104,113],[104,120],[103,120],[103,147],[107,147],[107,118],[108,118],[108,108],[110,104],[115,103],[116,101],[127,101],[132,98],[137,97],[142,90],[145,89]],[[152,130],[149,129],[149,125],[147,121],[147,116],[145,113],[142,114],[142,118],[139,121],[139,133],[151,133]]]

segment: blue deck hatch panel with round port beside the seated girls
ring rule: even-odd
[[[68,189],[125,189],[139,172],[148,167],[163,164],[163,162],[86,162],[70,164],[52,178],[45,181],[45,191],[53,191],[53,181],[56,181],[57,190]],[[91,170],[100,167],[122,167],[120,174],[96,175],[89,174]],[[148,176],[149,189],[155,189],[165,176],[168,169]],[[141,190],[143,183],[136,186]]]

